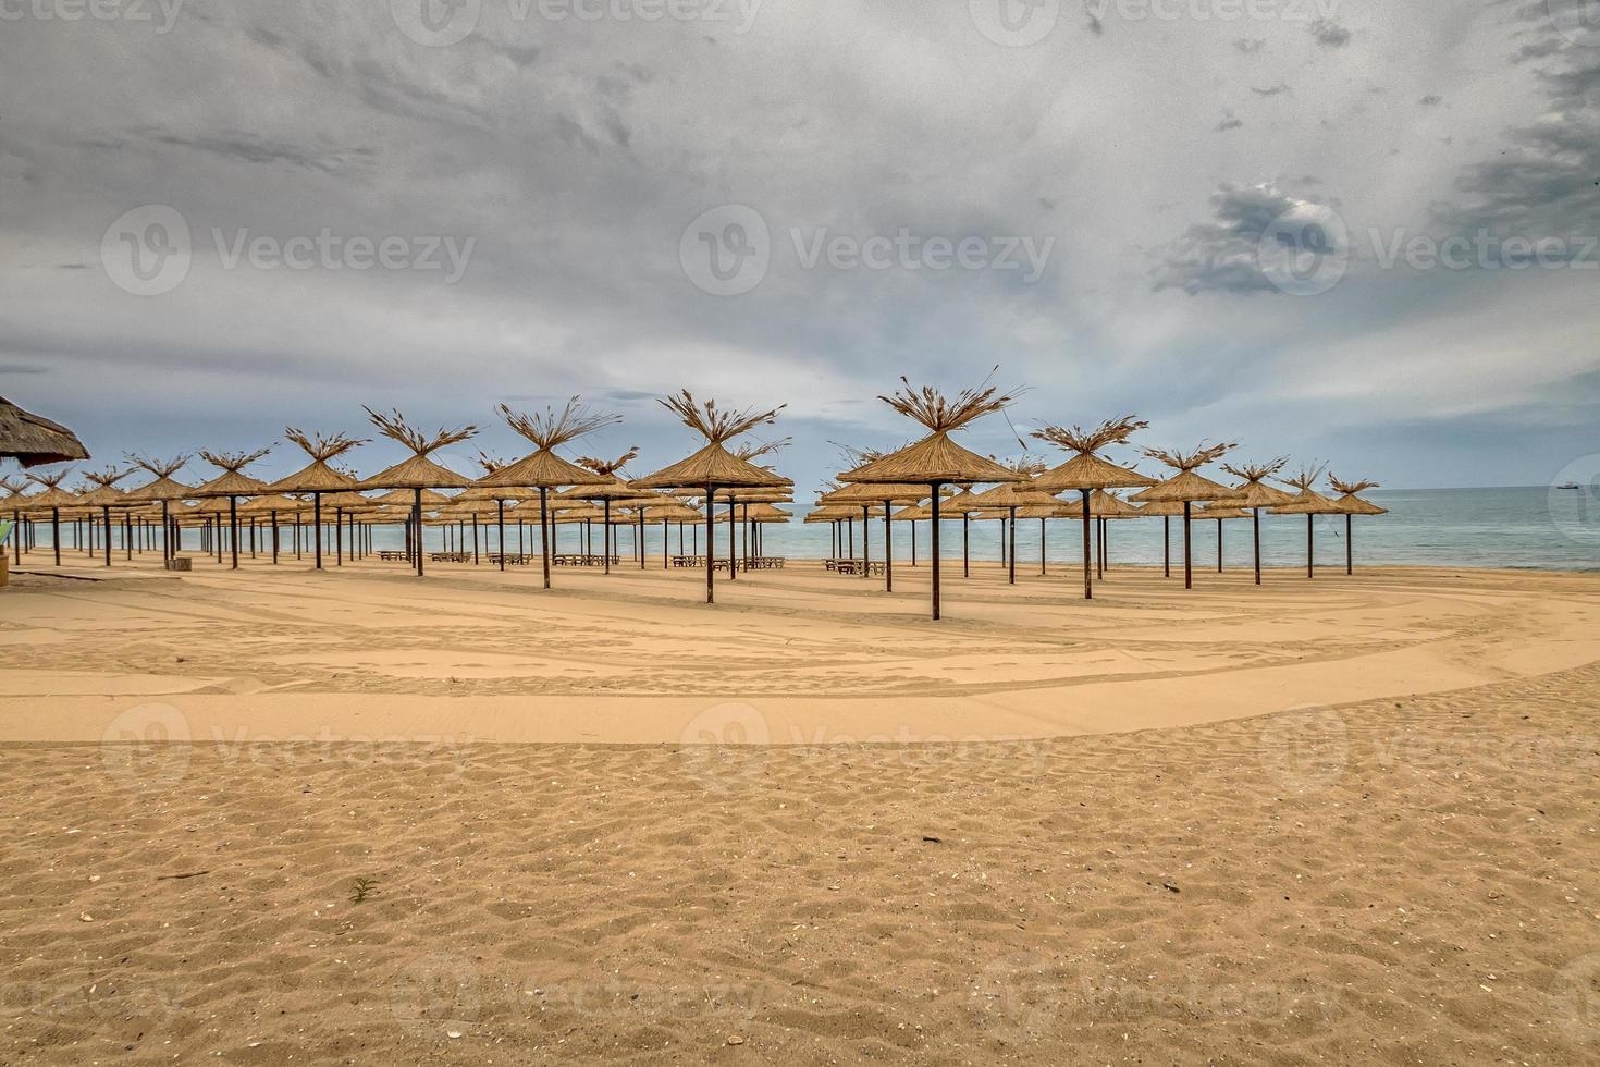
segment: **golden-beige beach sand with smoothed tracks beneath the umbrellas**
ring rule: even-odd
[[[1600,1051],[1594,576],[397,571],[6,590],[0,1059]]]

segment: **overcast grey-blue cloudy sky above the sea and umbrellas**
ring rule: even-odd
[[[1582,5],[98,5],[0,0],[0,395],[96,459],[362,403],[517,456],[496,402],[582,394],[645,474],[688,387],[787,403],[806,491],[915,437],[901,374],[997,363],[1002,456],[1123,413],[1390,486],[1600,451]]]

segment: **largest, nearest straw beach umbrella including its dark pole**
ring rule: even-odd
[[[856,467],[840,475],[840,482],[867,483],[917,483],[926,485],[933,499],[933,619],[939,619],[939,490],[946,485],[973,485],[989,482],[1026,482],[1021,475],[994,459],[986,459],[950,440],[950,434],[971,426],[995,411],[1003,411],[1013,402],[1000,395],[994,386],[963,389],[954,400],[936,389],[923,386],[912,389],[901,378],[901,389],[891,397],[878,397],[901,414],[915,419],[928,435],[915,445],[907,445],[882,459]]]

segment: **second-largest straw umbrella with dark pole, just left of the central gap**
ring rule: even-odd
[[[778,421],[778,413],[787,405],[778,405],[766,411],[755,410],[723,410],[715,400],[698,403],[688,389],[674,397],[659,400],[661,406],[678,416],[683,426],[706,438],[706,446],[693,456],[662,467],[643,478],[634,478],[634,486],[640,490],[704,490],[706,491],[706,603],[715,603],[715,531],[717,531],[717,491],[739,488],[781,488],[794,486],[789,478],[773,474],[749,459],[741,459],[728,451],[726,445],[736,437],[742,437],[758,426],[771,426]],[[730,507],[733,507],[730,504]],[[733,545],[730,544],[730,563]],[[733,566],[728,568],[733,576]]]

